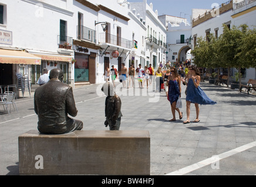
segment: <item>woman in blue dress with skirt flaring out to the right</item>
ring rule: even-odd
[[[194,123],[200,122],[199,120],[199,104],[200,105],[214,105],[216,102],[212,101],[206,93],[200,88],[200,72],[197,67],[191,66],[190,73],[188,74],[188,83],[187,83],[187,120],[184,121],[184,124],[190,123],[190,104],[194,103],[196,106],[196,120]]]

